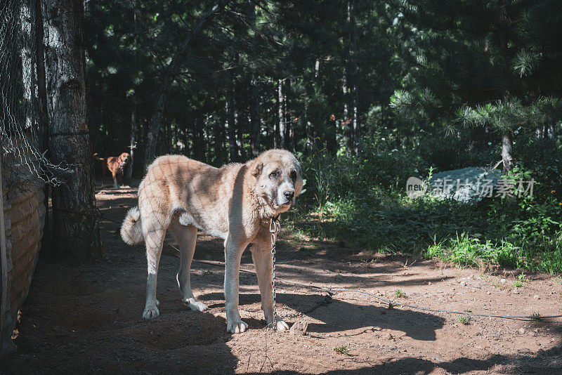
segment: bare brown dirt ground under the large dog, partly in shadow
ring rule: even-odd
[[[100,187],[98,185],[98,191]],[[144,322],[143,245],[118,235],[135,189],[97,195],[105,217],[105,259],[90,265],[39,263],[15,332],[18,350],[2,374],[562,374],[562,319],[521,322],[392,308],[370,296],[277,285],[277,311],[306,336],[264,331],[254,274],[240,275],[243,334],[227,334],[223,268],[193,263],[204,313],[180,301],[176,251],[164,245],[159,268],[160,317]],[[561,280],[513,272],[488,275],[434,261],[379,256],[282,230],[277,275],[312,285],[358,288],[431,308],[509,315],[562,314]],[[200,235],[195,259],[223,261],[222,241]],[[253,270],[249,251],[242,267]],[[502,282],[504,279],[504,282]],[[396,296],[396,289],[405,293]],[[307,312],[299,316],[299,313]],[[338,351],[335,349],[339,348]],[[338,353],[339,352],[339,353]]]

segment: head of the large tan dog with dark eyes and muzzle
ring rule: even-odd
[[[255,180],[255,194],[263,199],[274,213],[287,211],[301,194],[303,176],[301,164],[286,150],[269,150],[250,164]]]

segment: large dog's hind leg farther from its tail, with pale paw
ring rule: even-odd
[[[195,252],[195,242],[197,242],[197,228],[193,225],[180,225],[178,221],[172,221],[170,231],[180,248],[180,268],[176,280],[180,289],[181,301],[188,305],[191,310],[204,311],[207,305],[198,302],[191,290],[190,268]]]

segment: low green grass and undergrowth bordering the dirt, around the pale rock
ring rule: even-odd
[[[351,252],[438,258],[482,270],[562,272],[562,197],[547,187],[548,180],[536,185],[532,198],[474,204],[431,197],[412,200],[405,195],[405,180],[424,176],[429,165],[419,155],[390,152],[374,143],[365,146],[369,152],[361,158],[304,158],[307,191],[287,213],[285,228],[301,237],[341,242],[340,247]],[[372,154],[377,157],[367,156]],[[522,167],[518,171],[528,173]],[[541,173],[537,169],[532,176],[558,176]],[[303,246],[301,251],[313,248]],[[518,282],[524,284],[525,279]]]

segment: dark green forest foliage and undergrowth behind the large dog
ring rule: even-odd
[[[562,272],[562,3],[484,3],[233,2],[183,56],[157,154],[218,166],[284,147],[306,178],[287,213],[294,232],[352,250]],[[143,174],[155,93],[211,6],[88,4],[89,126],[100,156],[126,150],[134,114]],[[502,133],[515,159],[504,178],[534,178],[533,197],[405,196],[410,176],[494,165]]]

